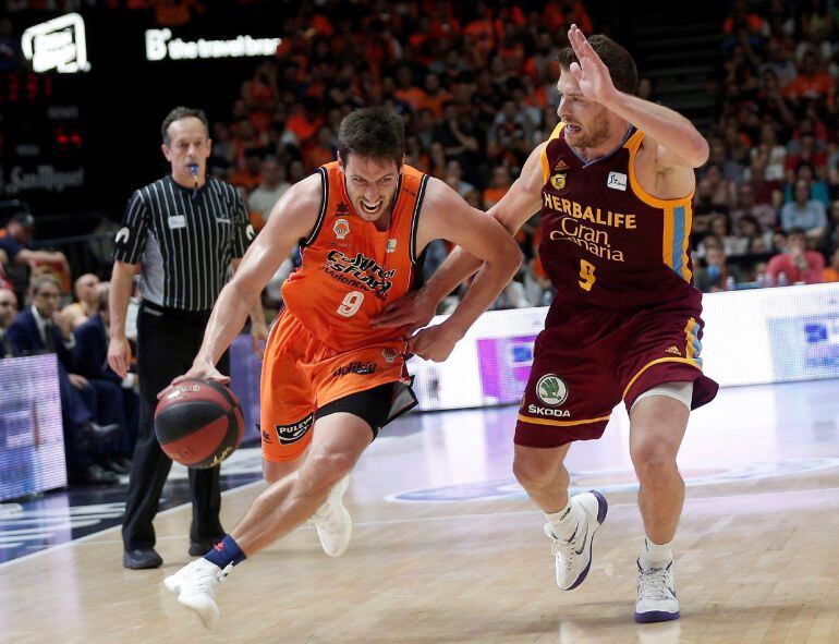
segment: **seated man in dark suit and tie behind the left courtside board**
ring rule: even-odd
[[[64,450],[71,483],[115,483],[113,472],[98,466],[90,451],[114,438],[120,426],[99,426],[94,422],[96,390],[87,379],[71,373],[75,338],[70,325],[58,313],[59,284],[52,277],[40,277],[32,287],[32,306],[24,308],[9,327],[7,339],[15,355],[54,353],[61,394]]]

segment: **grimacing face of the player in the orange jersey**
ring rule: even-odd
[[[346,193],[362,219],[376,221],[388,212],[401,170],[393,159],[350,155],[343,170]]]

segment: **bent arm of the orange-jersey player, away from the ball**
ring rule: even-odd
[[[466,330],[515,275],[521,252],[493,217],[475,210],[442,181],[428,182],[417,229],[417,248],[435,239],[462,247],[483,266],[457,311],[441,325],[412,338],[410,349],[427,360],[446,360]]]

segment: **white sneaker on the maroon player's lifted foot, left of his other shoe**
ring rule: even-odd
[[[603,495],[592,490],[571,497],[577,515],[574,534],[569,540],[558,539],[545,524],[545,534],[554,540],[550,551],[556,557],[557,585],[571,591],[583,583],[592,567],[594,533],[606,519],[608,503]]]

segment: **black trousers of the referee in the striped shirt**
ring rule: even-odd
[[[160,503],[160,493],[172,461],[160,449],[155,436],[157,393],[166,389],[175,376],[192,367],[198,353],[209,312],[163,309],[144,302],[137,315],[137,376],[139,380],[139,433],[131,464],[122,543],[126,550],[151,548],[155,545],[153,521]],[[219,370],[229,373],[224,353]],[[192,495],[192,543],[211,542],[224,535],[219,522],[221,491],[219,466],[208,470],[190,469]]]

